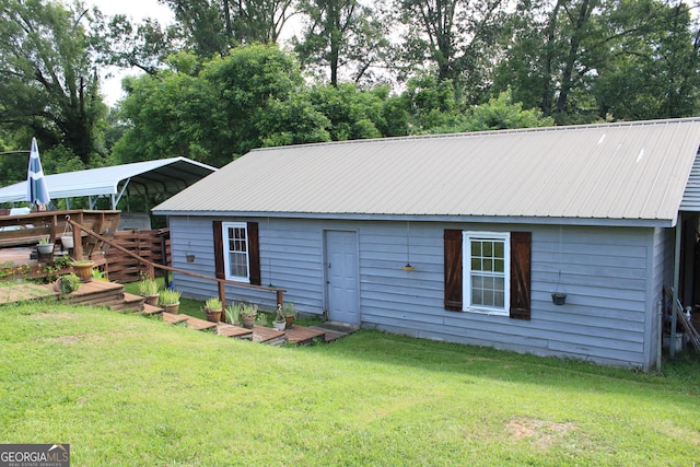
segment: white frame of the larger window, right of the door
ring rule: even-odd
[[[503,242],[503,307],[471,304],[471,241]],[[509,316],[511,306],[511,234],[510,232],[462,232],[462,293],[463,311],[487,315]],[[483,275],[488,276],[488,275]],[[495,277],[500,277],[495,275]]]

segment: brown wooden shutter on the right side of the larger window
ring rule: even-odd
[[[529,319],[530,232],[511,232],[511,318]]]

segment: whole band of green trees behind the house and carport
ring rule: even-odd
[[[0,3],[0,145],[36,136],[57,168],[223,165],[261,145],[700,113],[700,30],[681,0],[162,3],[173,24]],[[144,71],[109,113],[106,66]]]

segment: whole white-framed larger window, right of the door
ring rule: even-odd
[[[464,311],[508,315],[510,234],[464,232]]]

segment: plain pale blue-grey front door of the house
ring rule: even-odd
[[[326,231],[325,243],[328,319],[359,325],[358,234]]]

